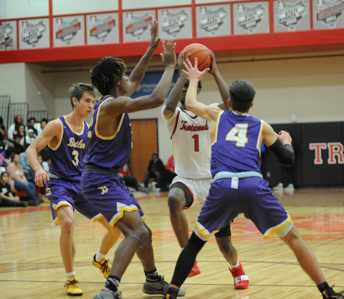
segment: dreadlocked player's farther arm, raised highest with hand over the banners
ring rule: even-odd
[[[154,52],[156,49],[158,49],[159,47],[159,43],[161,38],[158,36],[158,30],[159,26],[158,26],[158,21],[154,20],[154,22],[151,21],[151,42],[150,45],[147,49],[147,52],[142,56],[142,58],[140,59],[140,61],[138,62],[138,64],[135,66],[135,68],[133,69],[133,71],[131,72],[130,76],[129,76],[129,89],[128,89],[128,93],[126,94],[126,96],[131,96],[136,88],[140,85],[144,74],[147,71],[147,67],[154,55]]]

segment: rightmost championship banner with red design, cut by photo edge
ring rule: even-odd
[[[343,0],[313,0],[313,29],[344,28]]]

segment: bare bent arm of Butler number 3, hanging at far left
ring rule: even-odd
[[[49,181],[49,175],[43,169],[42,165],[37,159],[37,152],[44,149],[49,143],[55,142],[57,145],[58,138],[60,138],[61,123],[58,120],[52,120],[43,129],[30,146],[25,151],[25,156],[30,163],[32,169],[35,171],[35,184],[39,187],[43,187],[46,181]],[[56,139],[56,140],[54,140]]]

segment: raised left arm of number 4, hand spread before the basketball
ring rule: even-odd
[[[186,62],[184,62],[185,70],[183,70],[183,73],[185,73],[190,80],[189,88],[186,92],[185,97],[185,107],[186,109],[192,111],[194,114],[208,119],[208,120],[214,120],[216,121],[217,115],[221,109],[217,106],[207,106],[203,103],[197,102],[197,85],[198,81],[200,81],[204,74],[209,71],[209,68],[206,68],[204,71],[198,71],[197,68],[197,58],[195,58],[195,65],[192,66],[189,59],[186,59]]]

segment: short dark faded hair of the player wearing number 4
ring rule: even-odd
[[[248,112],[256,89],[253,84],[246,80],[234,80],[229,85],[229,98],[233,110],[238,112]]]

